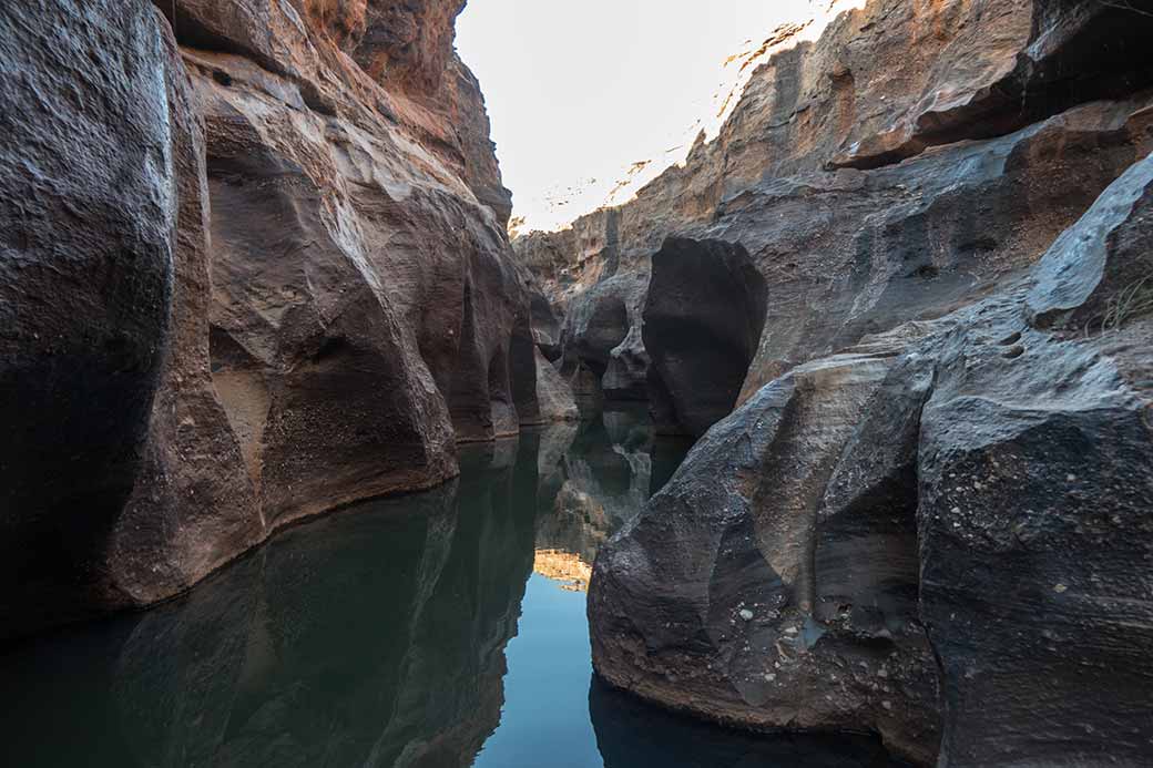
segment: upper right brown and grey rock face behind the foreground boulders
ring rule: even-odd
[[[769,311],[744,401],[865,334],[988,295],[1147,151],[1140,9],[839,5],[816,42],[807,28],[767,40],[775,55],[683,167],[514,241],[558,306],[608,277],[647,280],[669,236],[744,247]]]

